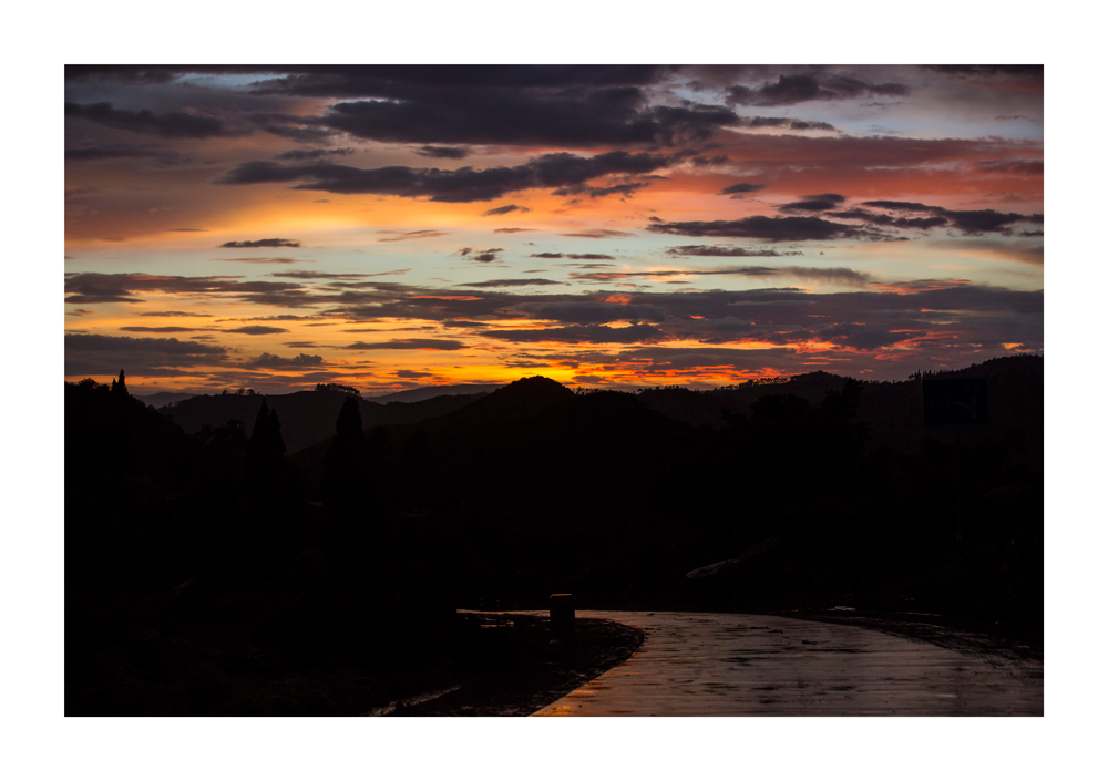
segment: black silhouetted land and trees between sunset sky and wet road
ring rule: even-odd
[[[986,424],[925,427],[921,378],[823,372],[637,394],[530,378],[384,424],[321,387],[283,414],[238,397],[249,415],[193,433],[122,374],[66,384],[66,713],[361,713],[493,686],[489,659],[587,668],[456,613],[554,592],[938,614],[1040,646],[1043,360],[951,376],[987,381]],[[334,435],[288,452],[325,414]]]

